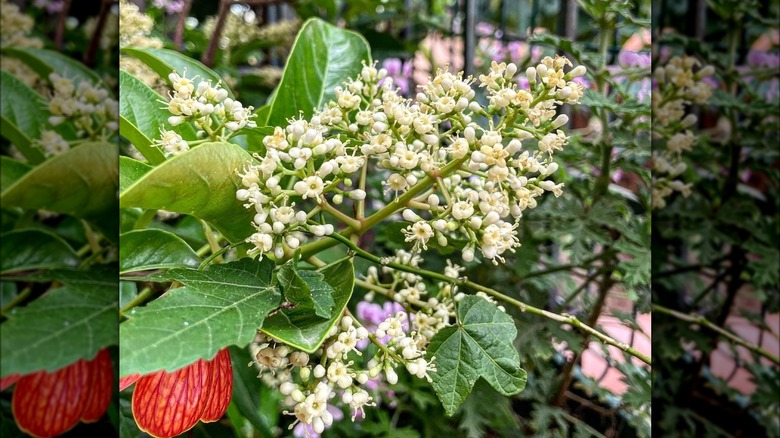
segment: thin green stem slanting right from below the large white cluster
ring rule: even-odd
[[[553,321],[558,321],[558,322],[560,322],[562,324],[569,324],[572,327],[576,327],[579,330],[581,330],[581,331],[583,331],[583,332],[585,332],[585,333],[587,333],[587,334],[589,334],[589,335],[599,339],[601,342],[603,342],[603,343],[605,343],[607,345],[612,345],[613,347],[616,347],[616,348],[618,348],[618,349],[628,353],[629,355],[636,357],[637,359],[641,360],[642,362],[644,362],[644,363],[646,363],[648,365],[651,365],[652,361],[651,361],[650,357],[640,353],[639,351],[637,351],[634,348],[632,348],[630,345],[625,344],[623,342],[616,341],[615,339],[609,337],[608,335],[606,335],[606,334],[604,334],[604,333],[594,329],[593,327],[583,323],[582,321],[577,319],[577,317],[575,317],[575,316],[572,316],[572,315],[569,315],[569,314],[566,314],[566,313],[563,313],[563,314],[559,315],[559,314],[554,313],[554,312],[550,312],[550,311],[547,311],[547,310],[544,310],[544,309],[540,309],[538,307],[531,306],[531,305],[526,304],[526,303],[524,303],[522,301],[519,301],[519,300],[517,300],[515,298],[512,298],[512,297],[510,297],[508,295],[504,295],[501,292],[498,292],[497,290],[494,290],[494,289],[491,289],[489,287],[485,287],[485,286],[482,286],[480,284],[477,284],[477,283],[474,283],[472,281],[469,281],[469,280],[465,279],[465,277],[464,278],[450,278],[450,277],[447,277],[446,275],[440,274],[438,272],[427,271],[425,269],[412,268],[410,266],[402,265],[402,264],[395,263],[395,262],[388,262],[387,260],[383,260],[380,257],[377,257],[377,256],[375,256],[375,255],[373,255],[373,254],[371,254],[371,253],[369,253],[367,251],[362,250],[357,245],[352,243],[352,241],[350,241],[349,239],[347,239],[346,237],[344,237],[344,236],[342,236],[341,234],[338,234],[338,233],[333,233],[333,234],[329,235],[328,237],[343,243],[344,245],[349,247],[355,253],[355,255],[357,255],[358,257],[366,259],[366,260],[370,260],[370,261],[372,261],[374,263],[379,263],[382,266],[389,266],[389,267],[391,267],[393,269],[397,269],[399,271],[410,272],[412,274],[417,274],[417,275],[428,277],[428,278],[432,278],[432,279],[435,279],[435,280],[444,281],[444,282],[447,282],[447,283],[450,283],[450,284],[453,284],[453,285],[456,285],[456,286],[466,287],[466,288],[478,290],[480,292],[485,292],[486,294],[488,294],[488,295],[490,295],[492,297],[498,298],[499,300],[501,300],[501,301],[503,301],[505,303],[508,303],[508,304],[511,304],[511,305],[515,306],[521,312],[533,313],[535,315],[544,316],[545,318],[552,319]]]

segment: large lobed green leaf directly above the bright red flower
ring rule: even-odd
[[[241,259],[206,271],[172,269],[185,287],[169,290],[120,324],[120,376],[172,371],[255,337],[281,294],[271,284],[274,263]]]

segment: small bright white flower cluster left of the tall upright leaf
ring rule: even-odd
[[[212,140],[225,139],[244,127],[257,126],[252,120],[255,117],[253,107],[244,107],[228,97],[228,91],[219,83],[196,82],[197,77],[190,79],[186,74],[185,70],[181,75],[176,72],[168,75],[173,93],[165,104],[172,114],[168,117],[171,126],[192,122],[199,130],[199,136]],[[160,134],[154,145],[161,147],[167,155],[178,155],[190,149],[187,141],[176,132],[161,128]]]

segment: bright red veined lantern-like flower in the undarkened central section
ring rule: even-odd
[[[233,392],[233,366],[227,349],[214,359],[200,359],[173,372],[157,371],[120,379],[122,390],[133,383],[133,417],[149,435],[167,438],[192,429],[198,420],[217,421]]]

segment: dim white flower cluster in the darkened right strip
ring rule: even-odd
[[[658,90],[652,94],[653,139],[665,143],[665,148],[653,151],[652,205],[655,209],[664,208],[666,198],[673,192],[686,197],[691,193],[691,184],[678,178],[687,169],[683,154],[698,140],[688,129],[696,124],[696,115],[686,114],[686,109],[707,102],[713,86],[703,79],[715,72],[712,66],[699,66],[696,58],[674,57],[654,72]]]

